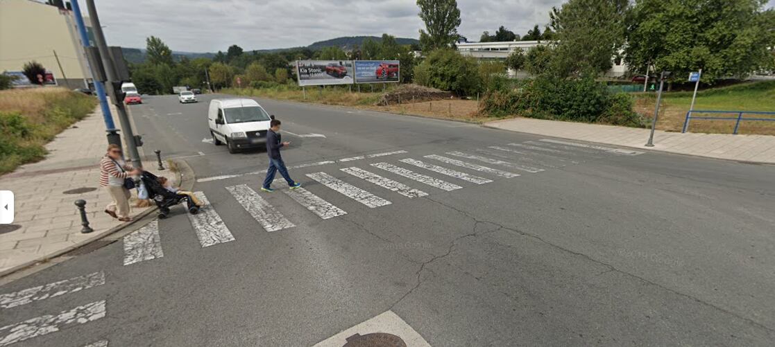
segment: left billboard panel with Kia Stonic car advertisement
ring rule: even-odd
[[[296,62],[299,86],[328,86],[353,84],[352,60],[298,60]]]

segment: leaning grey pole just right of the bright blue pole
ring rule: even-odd
[[[126,149],[129,150],[129,160],[132,162],[133,167],[143,168],[143,162],[140,159],[140,153],[137,151],[137,144],[140,142],[140,138],[136,138],[134,131],[132,130],[132,124],[129,122],[129,115],[126,114],[126,107],[124,106],[124,100],[119,100],[119,95],[122,93],[117,88],[121,87],[121,80],[116,77],[115,64],[111,59],[111,54],[108,51],[108,45],[105,43],[105,35],[102,33],[102,26],[97,16],[97,7],[94,0],[86,0],[86,7],[88,8],[89,17],[91,18],[91,30],[95,35],[95,43],[99,54],[102,56],[102,63],[105,66],[105,75],[108,77],[108,94],[112,96],[113,104],[116,110],[119,111],[119,121],[121,122],[121,128],[124,131],[124,140],[126,140]]]

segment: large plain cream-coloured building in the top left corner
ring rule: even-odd
[[[91,80],[71,10],[32,0],[0,0],[0,73],[21,71],[33,60],[62,87],[84,88]]]

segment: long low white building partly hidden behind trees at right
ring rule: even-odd
[[[527,52],[536,46],[548,45],[548,41],[507,41],[497,43],[458,43],[457,50],[463,56],[473,56],[481,60],[505,60],[509,54],[517,49]],[[612,60],[611,70],[605,73],[608,77],[622,77],[627,73],[627,66],[621,59]],[[515,71],[509,70],[509,75],[514,76]]]

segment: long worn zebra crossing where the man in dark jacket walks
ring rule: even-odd
[[[483,148],[469,148],[460,151],[445,151],[442,154],[412,155],[408,151],[391,151],[377,155],[360,155],[343,158],[329,163],[346,163],[374,158],[378,162],[361,162],[360,166],[317,170],[322,162],[295,165],[294,168],[312,168],[304,175],[310,179],[306,188],[282,189],[283,195],[260,194],[250,185],[226,185],[229,195],[239,203],[246,215],[252,217],[266,232],[280,232],[296,228],[300,220],[286,216],[283,208],[271,202],[282,200],[298,204],[319,219],[333,219],[344,216],[354,206],[336,206],[331,201],[353,201],[355,206],[380,209],[394,204],[395,199],[418,199],[439,192],[456,192],[460,189],[474,189],[497,180],[518,179],[522,175],[537,174],[546,170],[575,165],[589,158],[602,155],[638,155],[642,152],[622,148],[580,144],[570,141],[541,140],[489,145]],[[392,155],[394,161],[384,160]],[[336,177],[341,172],[346,175]],[[518,173],[519,172],[519,173]],[[235,175],[239,176],[239,175]],[[348,182],[346,182],[348,181]],[[207,180],[204,182],[212,182]],[[310,184],[316,183],[316,184]],[[311,187],[314,189],[310,190]],[[392,193],[398,194],[391,198]],[[202,201],[202,209],[196,215],[188,214],[191,227],[202,247],[212,247],[235,240],[227,223],[212,206],[204,192],[195,192]],[[329,196],[332,194],[332,196]],[[338,196],[338,198],[337,198]],[[288,199],[290,198],[290,199]],[[394,201],[391,201],[394,200]],[[337,202],[339,203],[339,202]],[[284,206],[288,207],[288,206]],[[350,211],[352,212],[352,211]],[[298,219],[294,213],[288,216]],[[158,221],[130,233],[124,242],[124,265],[164,257]]]

